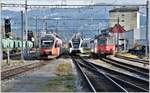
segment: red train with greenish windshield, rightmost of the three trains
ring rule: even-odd
[[[115,51],[113,36],[98,35],[91,41],[91,51],[94,55],[111,55]]]

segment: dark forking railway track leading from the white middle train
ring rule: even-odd
[[[80,65],[80,68],[84,73],[90,71],[97,78],[88,80],[92,84],[91,88],[94,88],[96,92],[147,92],[148,91],[148,81],[142,80],[136,77],[128,76],[123,73],[119,73],[108,68],[101,67],[99,65],[88,62],[81,57],[72,57],[74,63]],[[95,81],[95,80],[100,80]],[[95,81],[95,82],[93,82]],[[89,84],[89,85],[90,85]],[[94,91],[94,92],[95,92]],[[93,91],[92,91],[93,92]]]

